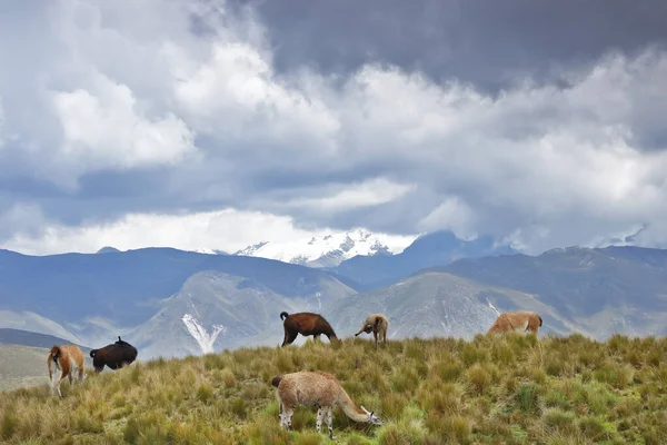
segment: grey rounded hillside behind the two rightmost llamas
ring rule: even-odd
[[[340,299],[329,308],[339,336],[357,333],[367,315],[389,319],[388,338],[472,338],[486,333],[498,313],[522,308],[538,312],[546,334],[580,330],[534,296],[475,283],[451,274],[416,274],[389,287]]]

